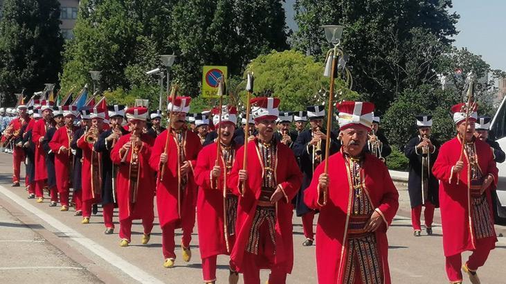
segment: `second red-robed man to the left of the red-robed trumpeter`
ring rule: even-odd
[[[46,152],[42,148],[44,142],[44,135],[46,131],[55,125],[53,121],[53,102],[49,100],[42,100],[41,102],[42,118],[33,125],[32,130],[32,141],[35,144],[35,195],[37,196],[37,202],[42,203],[44,201],[44,186],[48,178],[48,172],[46,169]],[[51,202],[57,202],[58,199],[54,195],[56,193],[55,188],[50,188]]]

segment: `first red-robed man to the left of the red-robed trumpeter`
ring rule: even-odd
[[[69,211],[69,187],[73,167],[73,154],[71,142],[77,127],[73,125],[75,116],[78,114],[77,107],[65,105],[62,107],[65,127],[56,130],[53,139],[49,141],[49,147],[55,153],[56,186],[60,194],[60,211]]]

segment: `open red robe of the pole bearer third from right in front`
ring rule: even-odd
[[[248,164],[246,165],[248,179],[246,190],[244,190],[243,195],[240,195],[238,173],[239,170],[242,170],[244,146],[237,151],[236,157],[230,180],[228,181],[229,184],[233,185],[235,194],[239,195],[237,224],[235,226],[235,246],[232,249],[231,259],[237,266],[237,269],[242,271],[242,261],[249,240],[249,232],[253,218],[255,218],[255,211],[261,193],[264,168],[262,166],[263,161],[260,161],[256,141],[249,141]],[[291,273],[293,267],[293,234],[291,224],[293,205],[291,204],[291,199],[295,197],[300,184],[302,184],[302,172],[298,168],[293,152],[287,145],[282,143],[276,145],[275,161],[275,181],[282,186],[284,197],[276,203],[276,251],[274,261],[275,265],[280,265],[284,269],[284,272]],[[269,263],[266,263],[266,266],[261,268],[269,268]]]

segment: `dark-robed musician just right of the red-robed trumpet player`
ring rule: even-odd
[[[111,161],[111,150],[118,142],[121,136],[128,134],[121,124],[125,116],[124,105],[111,105],[107,107],[109,112],[109,123],[111,127],[98,136],[98,140],[93,145],[96,152],[101,153],[102,157],[102,215],[104,216],[104,225],[106,235],[114,233],[114,204],[116,199],[116,172],[117,168]]]

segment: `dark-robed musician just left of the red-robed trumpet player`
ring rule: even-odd
[[[74,216],[82,215],[82,149],[78,147],[78,140],[91,127],[91,119],[89,118],[89,109],[80,110],[80,127],[75,130],[72,137],[71,148],[74,152],[73,179],[72,179],[72,202],[75,204]]]

